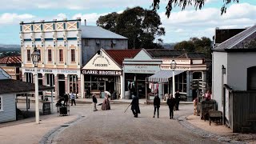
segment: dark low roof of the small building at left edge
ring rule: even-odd
[[[21,82],[14,79],[2,79],[0,80],[0,94],[18,94],[26,92],[34,92],[34,83]],[[39,91],[53,90],[54,87],[50,86],[38,86]]]

